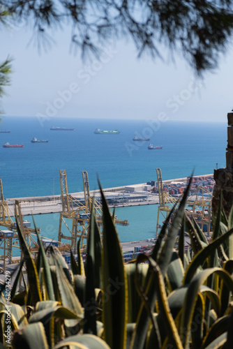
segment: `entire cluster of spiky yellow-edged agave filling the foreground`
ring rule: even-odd
[[[1,290],[0,348],[232,348],[233,211],[227,219],[220,207],[208,242],[185,215],[187,188],[151,254],[124,264],[101,195],[103,241],[93,209],[85,264],[79,244],[77,262],[70,251],[69,269],[57,248],[44,250],[39,236],[35,262],[18,227],[23,260],[10,300],[7,285]],[[192,246],[187,253],[186,234]]]

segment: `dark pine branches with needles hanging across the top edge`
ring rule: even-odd
[[[34,39],[44,46],[52,42],[49,29],[69,24],[73,48],[82,55],[89,51],[97,55],[103,43],[119,37],[132,38],[139,56],[149,52],[163,58],[159,47],[169,47],[201,74],[216,68],[219,54],[227,49],[232,4],[231,0],[0,0],[0,22],[5,12],[13,22],[33,24]]]

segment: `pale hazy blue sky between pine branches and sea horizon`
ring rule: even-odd
[[[196,80],[186,61],[137,59],[133,44],[106,45],[100,61],[70,53],[70,31],[54,34],[51,50],[29,44],[32,31],[1,31],[0,61],[14,58],[10,87],[1,105],[6,115],[82,118],[222,121],[233,108],[233,50],[214,73]]]

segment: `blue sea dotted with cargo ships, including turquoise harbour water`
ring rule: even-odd
[[[50,131],[52,126],[75,131]],[[118,129],[119,135],[96,135],[96,128]],[[225,167],[227,123],[194,123],[165,120],[114,120],[38,117],[1,117],[0,177],[4,198],[60,194],[59,170],[65,169],[69,193],[83,191],[82,171],[91,189],[156,181],[156,168],[163,179],[211,174]],[[162,150],[149,151],[149,142],[133,142],[133,136],[150,138]],[[31,138],[49,140],[31,143]],[[5,142],[24,148],[3,148]],[[157,205],[117,208],[121,242],[155,237]],[[31,221],[31,217],[25,217]],[[35,216],[41,235],[57,239],[59,214]]]

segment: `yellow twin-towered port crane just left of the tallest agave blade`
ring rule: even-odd
[[[66,170],[59,170],[60,186],[61,186],[61,205],[62,212],[59,218],[59,237],[70,242],[70,248],[76,251],[77,239],[80,239],[80,246],[84,249],[87,246],[87,237],[89,233],[89,223],[91,218],[91,207],[94,206],[96,213],[96,221],[100,228],[100,233],[103,225],[103,214],[100,202],[94,196],[90,195],[89,179],[87,171],[82,171],[82,181],[84,187],[84,200],[77,200],[73,195],[68,193]],[[69,224],[71,221],[71,225]],[[128,225],[128,221],[122,221],[114,217],[114,223],[120,225]],[[69,234],[66,235],[68,230]]]

